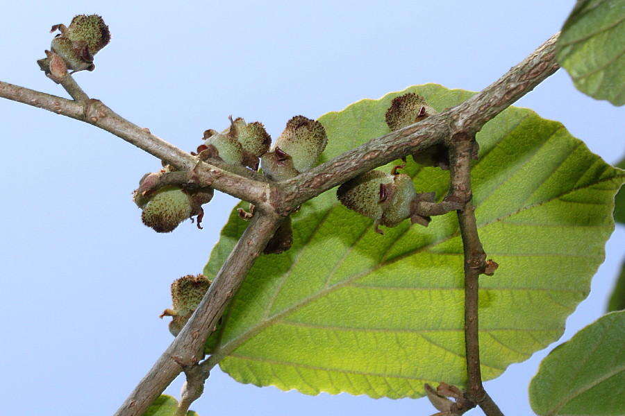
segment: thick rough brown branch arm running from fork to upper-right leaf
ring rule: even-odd
[[[494,116],[530,92],[560,66],[556,62],[553,35],[497,82],[464,103],[424,121],[389,133],[320,164],[281,184],[284,205],[297,207],[304,201],[378,166],[418,153],[448,140],[456,132],[475,134]]]

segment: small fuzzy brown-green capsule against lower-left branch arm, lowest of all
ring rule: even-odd
[[[163,316],[174,318],[172,322],[169,322],[169,332],[174,336],[178,336],[191,318],[211,283],[213,281],[204,275],[187,275],[172,283],[172,309],[165,309],[160,314],[160,318],[162,319]]]

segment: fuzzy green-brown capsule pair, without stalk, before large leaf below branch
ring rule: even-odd
[[[375,230],[383,234],[379,225],[396,227],[410,218],[417,192],[408,175],[369,171],[342,184],[337,196],[345,207],[376,220]]]

